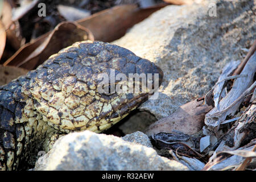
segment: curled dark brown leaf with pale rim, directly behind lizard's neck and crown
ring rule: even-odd
[[[44,39],[44,36],[47,36]],[[86,28],[73,22],[63,22],[58,24],[55,29],[49,34],[44,35],[37,39],[38,42],[27,45],[26,48],[21,48],[18,53],[15,53],[13,57],[7,60],[3,65],[15,65],[25,69],[35,69],[38,65],[42,64],[53,53],[57,53],[60,49],[71,46],[75,42],[82,40],[94,40],[92,32]],[[27,56],[22,57],[23,51]],[[27,52],[26,52],[27,51]],[[30,52],[32,51],[32,52]]]

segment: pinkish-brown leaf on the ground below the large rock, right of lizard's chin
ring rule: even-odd
[[[204,125],[205,114],[212,109],[212,106],[203,105],[203,102],[203,100],[193,100],[180,106],[170,116],[150,125],[146,134],[172,133],[173,130],[181,131],[188,135],[197,133]]]

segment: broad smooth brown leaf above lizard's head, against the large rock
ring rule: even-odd
[[[166,4],[139,9],[137,5],[120,5],[77,20],[77,23],[92,31],[95,40],[112,42],[125,35],[128,28],[164,6]]]

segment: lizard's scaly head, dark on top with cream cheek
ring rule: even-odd
[[[36,109],[65,132],[108,129],[156,93],[163,80],[154,63],[103,42],[77,42],[35,72],[40,76],[30,92]]]

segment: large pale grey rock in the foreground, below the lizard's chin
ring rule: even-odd
[[[40,164],[40,165],[39,165]],[[150,147],[91,131],[59,138],[35,170],[187,170]]]

